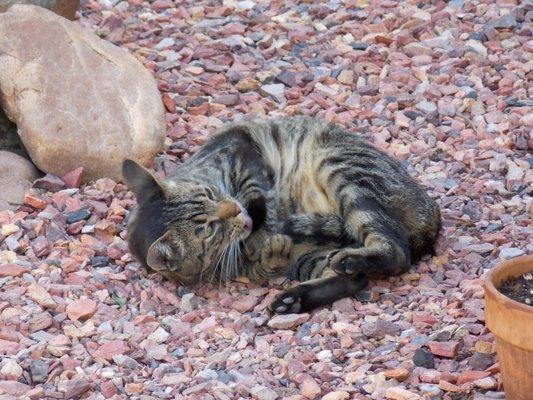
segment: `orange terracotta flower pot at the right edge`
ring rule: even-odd
[[[511,300],[496,288],[525,272],[533,272],[533,255],[506,261],[485,278],[485,320],[496,338],[508,400],[533,399],[533,307]]]

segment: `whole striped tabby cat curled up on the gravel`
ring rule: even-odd
[[[402,167],[309,117],[229,125],[163,181],[123,165],[138,207],[132,253],[184,284],[285,275],[270,305],[303,312],[406,271],[432,252],[440,212]]]

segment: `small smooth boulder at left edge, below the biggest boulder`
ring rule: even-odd
[[[31,162],[9,151],[0,151],[0,210],[13,210],[39,177]]]

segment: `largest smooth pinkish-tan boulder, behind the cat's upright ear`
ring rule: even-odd
[[[0,99],[33,162],[63,176],[121,179],[165,139],[155,80],[126,50],[35,6],[0,13]]]

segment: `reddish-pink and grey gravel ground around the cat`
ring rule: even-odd
[[[78,22],[157,78],[160,176],[226,121],[316,115],[429,188],[438,255],[358,299],[272,320],[286,283],[193,294],[162,282],[128,252],[123,185],[47,177],[0,212],[2,399],[503,398],[482,277],[533,251],[532,11],[371,3],[100,0]]]

